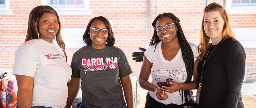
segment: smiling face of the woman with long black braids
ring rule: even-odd
[[[170,17],[162,17],[156,21],[156,27],[164,27],[166,24],[174,23]],[[159,39],[161,39],[164,43],[169,43],[174,40],[177,40],[177,28],[175,24],[172,24],[172,28],[170,30],[165,30],[163,28],[162,32],[157,32]]]

